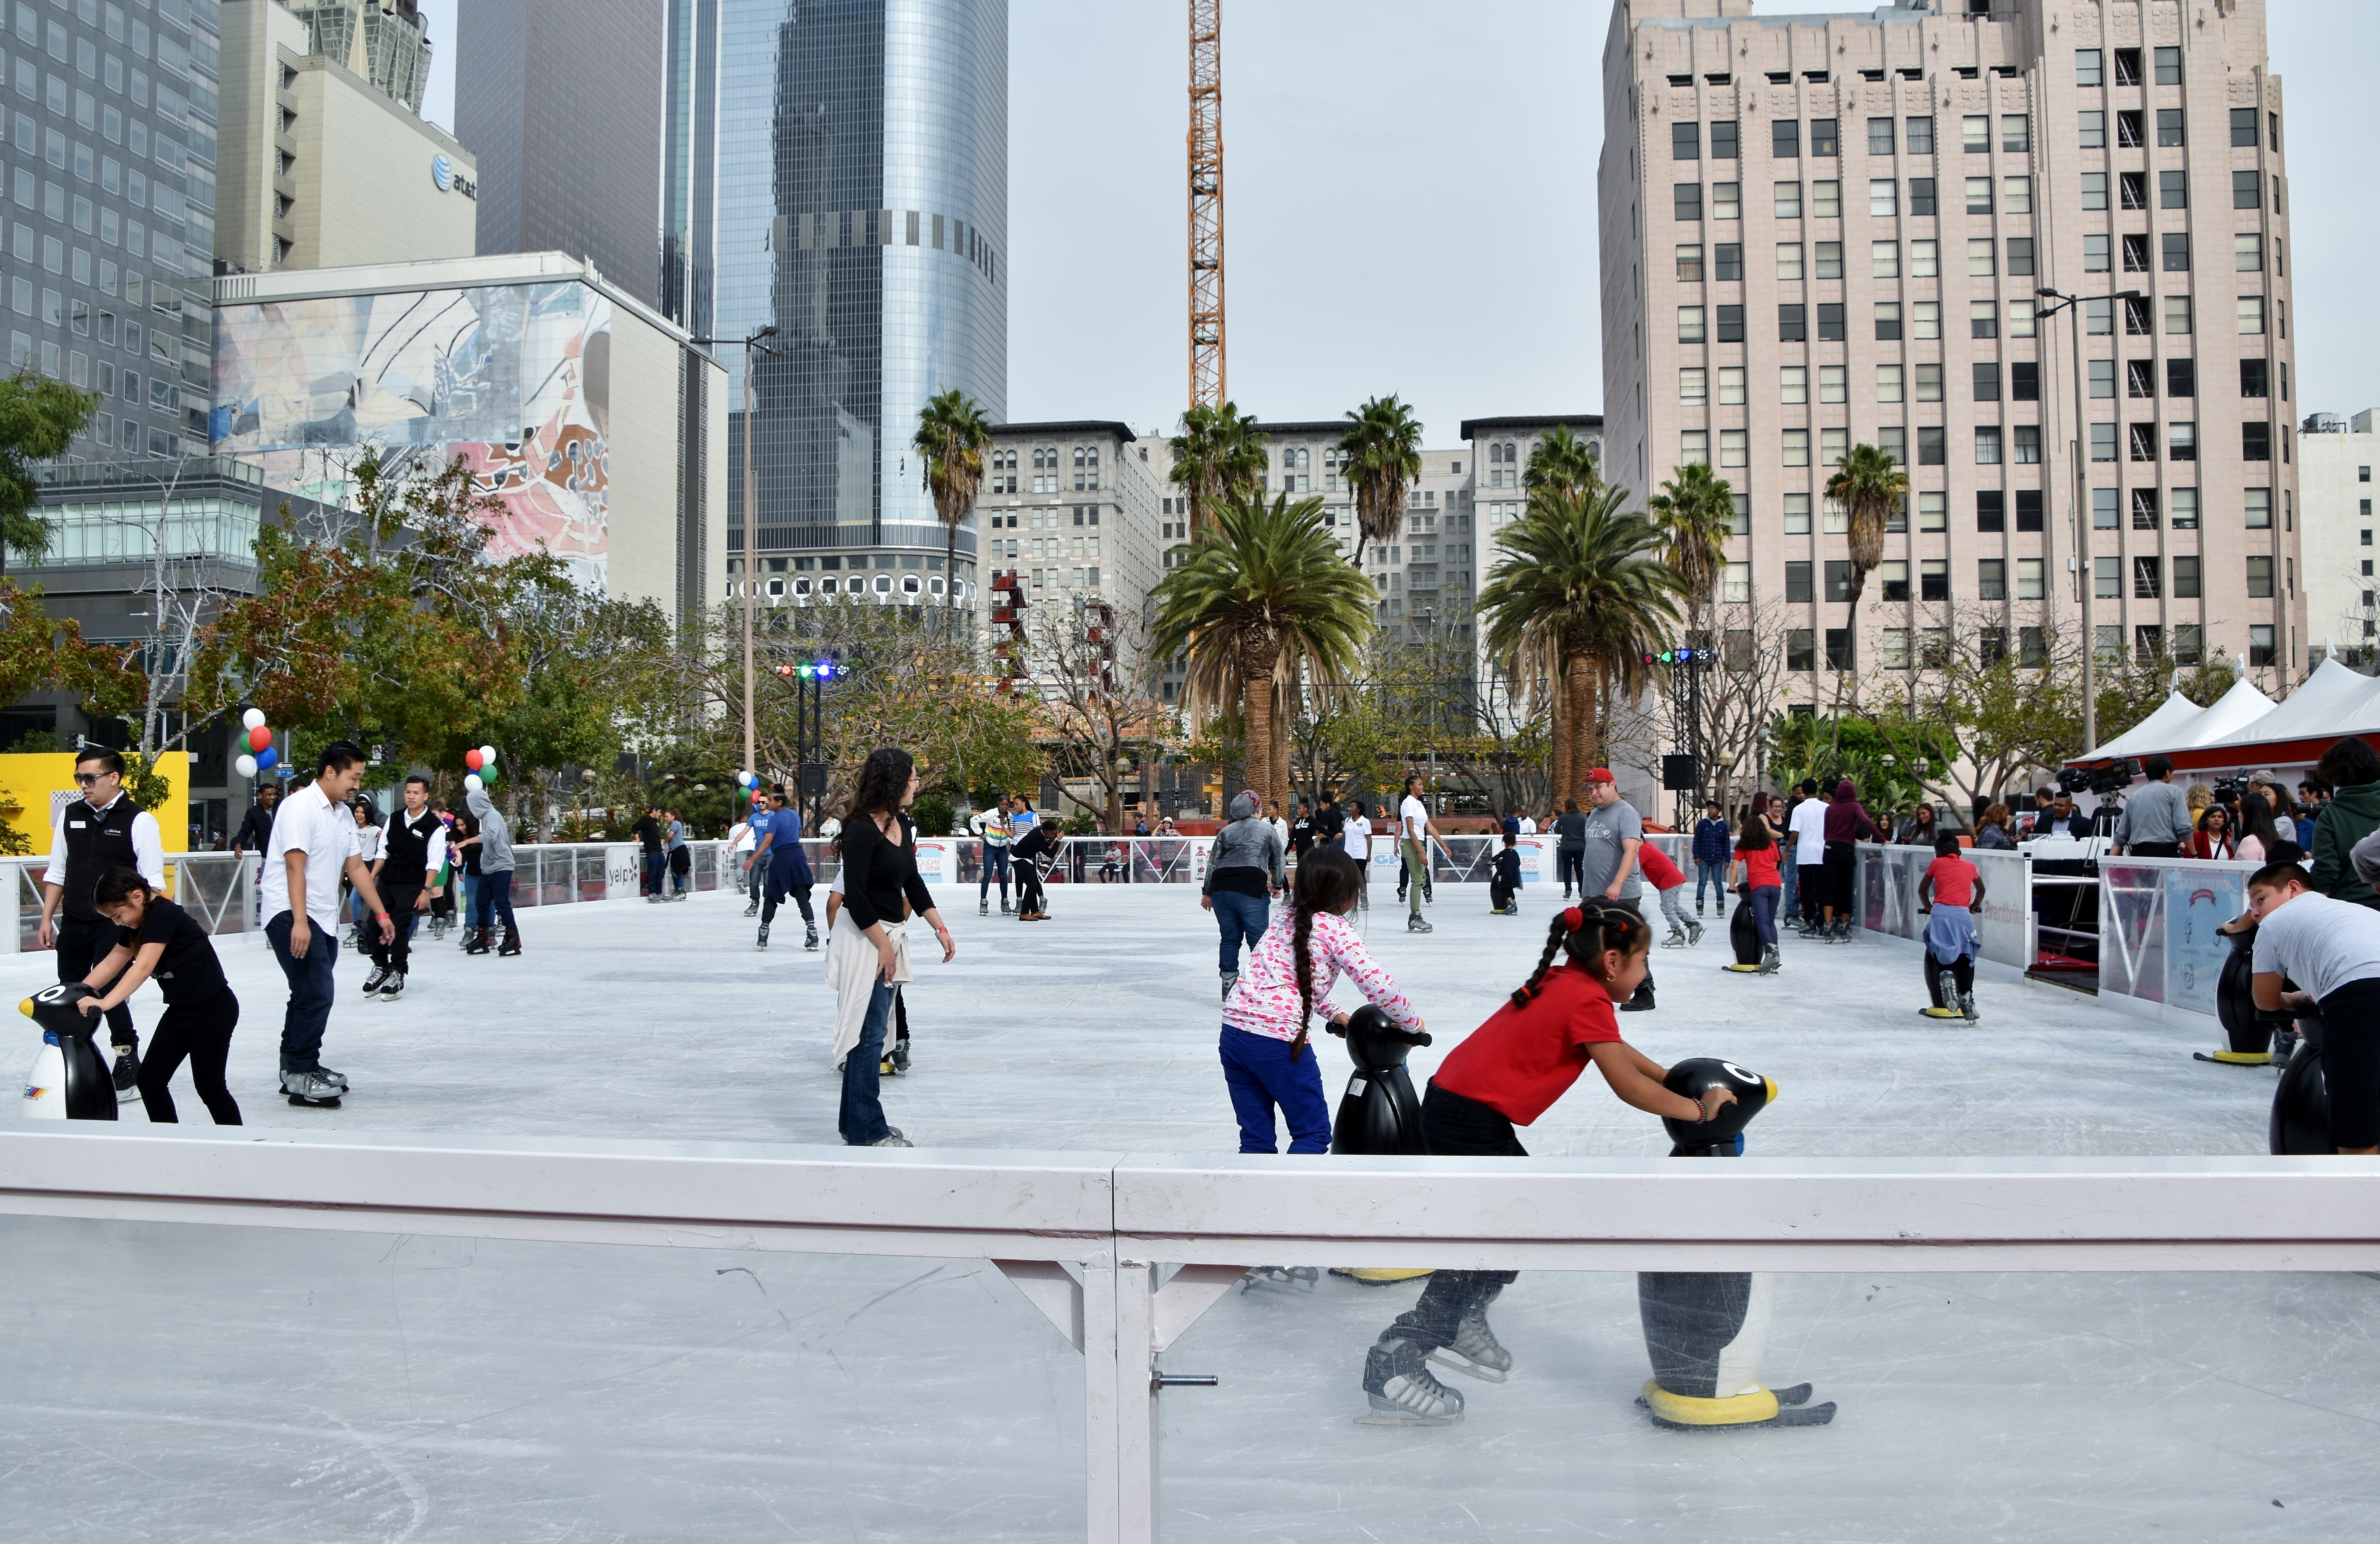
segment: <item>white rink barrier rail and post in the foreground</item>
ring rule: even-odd
[[[1250,1261],[2380,1270],[2380,1168],[2361,1159],[854,1154],[69,1125],[0,1128],[0,1213],[988,1259],[1083,1354],[1090,1544],[1154,1542],[1161,1377],[1195,1377],[1161,1358]]]

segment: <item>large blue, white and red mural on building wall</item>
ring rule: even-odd
[[[545,547],[605,588],[612,302],[583,283],[224,305],[217,454],[340,504],[367,447],[462,457],[502,504],[490,557]]]

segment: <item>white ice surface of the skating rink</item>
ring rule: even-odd
[[[916,1066],[885,1085],[919,1147],[1235,1147],[1192,890],[1054,887],[1031,925],[947,895],[959,959],[919,961]],[[1530,890],[1495,918],[1485,887],[1449,885],[1438,930],[1407,935],[1380,897],[1368,940],[1440,1035],[1416,1085],[1528,975],[1549,906]],[[271,1092],[281,975],[259,937],[224,940],[248,1121],[835,1140],[833,1004],[790,911],[766,952],[733,895],[521,918],[519,959],[424,940],[395,1004],[340,956],[338,1111]],[[1726,959],[1721,925],[1656,949],[1661,1006],[1623,1030],[1775,1078],[1759,1154],[2263,1151],[2273,1075],[2194,1063],[2182,1030],[2002,980],[1978,987],[1983,1023],[1935,1028],[1916,956],[1883,942],[1787,940],[1775,978]],[[45,980],[48,956],[0,964],[10,1002]],[[136,1013],[145,1030],[152,992]],[[1335,1040],[1321,1066],[1335,1099]],[[205,1121],[188,1078],[176,1099]],[[1523,1140],[1666,1149],[1595,1078]],[[10,1539],[1083,1530],[1081,1358],[985,1261],[0,1218],[0,1294]],[[1618,1273],[1523,1275],[1495,1308],[1511,1382],[1449,1377],[1464,1425],[1359,1427],[1364,1347],[1414,1294],[1326,1278],[1209,1311],[1166,1354],[1221,1387],[1164,1396],[1164,1537],[2361,1539],[2380,1504],[2366,1275],[1783,1275],[1768,1382],[1814,1380],[1842,1413],[1726,1435],[1633,1408],[1647,1363]]]

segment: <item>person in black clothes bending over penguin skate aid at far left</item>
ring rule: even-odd
[[[224,1061],[231,1059],[231,1030],[240,1023],[240,999],[224,980],[224,961],[198,918],[162,895],[150,895],[148,880],[131,868],[109,868],[90,892],[90,904],[117,925],[117,947],[83,985],[98,990],[114,980],[105,997],[86,997],[76,1006],[105,1013],[155,978],[164,994],[164,1016],[150,1030],[150,1054],[140,1061],[140,1104],[150,1121],[176,1123],[174,1094],[167,1082],[183,1056],[190,1059],[190,1082],[207,1101],[217,1125],[238,1125],[240,1106],[224,1085]]]

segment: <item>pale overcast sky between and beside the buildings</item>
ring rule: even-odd
[[[452,124],[455,0],[421,10],[436,45],[428,117]],[[1399,393],[1428,443],[1452,445],[1466,416],[1602,407],[1595,157],[1609,21],[1602,0],[1223,7],[1228,371],[1242,409],[1338,419]],[[2290,100],[2292,409],[2375,407],[2380,5],[2275,0],[2271,52]],[[1171,431],[1180,416],[1185,83],[1180,0],[1012,0],[1012,421]]]

